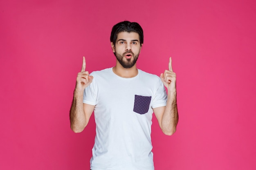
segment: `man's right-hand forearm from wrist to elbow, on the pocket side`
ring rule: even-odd
[[[162,131],[166,135],[172,135],[176,131],[178,123],[177,110],[177,92],[176,89],[168,91],[167,103],[162,117]]]

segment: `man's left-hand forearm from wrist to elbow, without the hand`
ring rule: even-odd
[[[74,91],[70,108],[70,126],[74,132],[82,132],[86,126],[85,111],[83,108],[83,92]]]

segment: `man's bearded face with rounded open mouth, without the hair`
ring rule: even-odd
[[[139,57],[142,44],[139,43],[138,33],[120,32],[117,35],[116,44],[111,42],[111,46],[119,63],[124,68],[131,68]]]

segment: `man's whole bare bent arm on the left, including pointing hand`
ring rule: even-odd
[[[76,88],[70,108],[70,127],[76,133],[82,132],[85,126],[87,126],[94,110],[93,105],[83,104],[83,91],[91,84],[93,79],[89,72],[85,71],[85,68],[85,57],[83,57],[82,70],[76,77]]]

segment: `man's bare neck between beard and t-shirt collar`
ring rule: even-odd
[[[118,61],[116,66],[113,67],[113,72],[116,75],[124,78],[131,78],[138,75],[138,69],[136,68],[136,64],[131,68],[124,68],[123,66],[121,66],[121,64]]]

